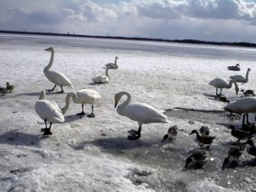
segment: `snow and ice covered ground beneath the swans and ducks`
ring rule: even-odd
[[[223,110],[214,99],[213,78],[245,75],[239,84],[254,89],[256,50],[149,41],[118,41],[50,36],[0,36],[0,86],[8,81],[14,92],[0,97],[0,191],[253,191],[256,168],[222,170],[223,159],[236,141],[227,127],[239,126],[228,113],[172,110],[175,107]],[[71,102],[64,123],[52,124],[52,135],[43,136],[43,120],[34,104],[40,92],[53,85],[43,75],[54,47],[52,69],[70,78],[74,90],[91,88],[101,98],[94,108],[95,118],[79,117],[81,105]],[[109,70],[111,81],[93,85],[91,78],[104,74],[104,65],[119,57],[119,69]],[[240,63],[241,71],[227,70]],[[58,87],[60,90],[60,87]],[[128,141],[128,130],[137,123],[117,114],[114,95],[126,90],[132,101],[144,102],[165,112],[171,124],[142,126],[142,136]],[[66,93],[47,93],[47,99],[61,108]],[[231,101],[234,88],[223,90]],[[168,111],[166,112],[166,110]],[[171,110],[171,111],[170,111]],[[85,105],[90,113],[90,105]],[[176,124],[173,142],[162,143],[167,129]],[[210,127],[216,139],[210,160],[203,169],[184,169],[185,159],[198,149],[193,129]],[[251,160],[244,151],[242,160]]]

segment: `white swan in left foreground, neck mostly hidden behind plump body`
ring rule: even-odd
[[[45,129],[42,129],[44,132],[43,135],[52,134],[52,123],[61,123],[65,121],[62,110],[59,106],[55,102],[45,99],[45,91],[41,92],[39,100],[35,102],[34,109],[45,123]],[[50,123],[48,128],[47,122]]]

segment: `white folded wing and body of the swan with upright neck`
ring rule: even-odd
[[[53,70],[44,70],[44,75],[48,78],[53,84],[57,86],[67,86],[73,88],[73,85],[69,78],[67,78],[63,73],[53,71]]]

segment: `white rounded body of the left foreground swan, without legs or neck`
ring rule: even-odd
[[[36,101],[34,105],[34,109],[36,113],[43,120],[46,119],[51,123],[60,123],[65,121],[61,109],[53,101],[49,101],[49,100]]]

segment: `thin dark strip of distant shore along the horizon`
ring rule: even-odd
[[[131,41],[165,41],[165,42],[177,42],[177,43],[228,45],[228,46],[256,48],[256,43],[251,43],[251,42],[199,41],[199,40],[190,40],[190,39],[165,40],[165,39],[153,39],[153,38],[143,38],[143,37],[100,36],[100,35],[82,35],[82,34],[71,34],[71,33],[64,34],[64,33],[55,33],[55,32],[17,32],[17,31],[3,31],[3,30],[0,31],[0,33],[51,35],[51,36],[63,36],[63,37],[84,37],[84,38],[116,39],[116,40],[131,40]]]

